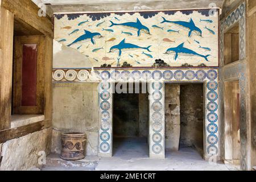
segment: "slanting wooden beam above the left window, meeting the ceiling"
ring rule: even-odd
[[[53,24],[51,18],[48,16],[40,17],[39,7],[35,5],[32,1],[28,0],[2,0],[2,7],[6,10],[11,11],[17,21],[24,21],[30,26],[34,27],[36,30],[42,32],[53,38]]]

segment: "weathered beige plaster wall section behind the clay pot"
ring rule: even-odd
[[[60,154],[61,133],[86,134],[86,155],[98,154],[98,84],[53,84],[52,152]]]

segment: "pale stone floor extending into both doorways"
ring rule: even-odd
[[[46,170],[96,170],[96,171],[228,171],[237,170],[223,163],[209,164],[191,147],[166,152],[166,159],[148,159],[146,139],[114,140],[113,158],[87,156],[77,162],[66,162],[50,155]]]

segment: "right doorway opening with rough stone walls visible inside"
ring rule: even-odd
[[[166,84],[165,89],[167,157],[177,153],[203,159],[204,84]]]

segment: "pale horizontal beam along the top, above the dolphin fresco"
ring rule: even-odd
[[[66,1],[71,5],[64,5],[63,1],[54,1],[52,5],[48,5],[48,9],[53,12],[78,12],[78,11],[131,11],[131,10],[174,10],[174,9],[195,9],[195,8],[209,8],[208,0],[168,0],[168,1],[77,1],[78,4],[71,3],[71,0]],[[231,1],[231,0],[230,0]],[[217,7],[222,7],[224,0],[212,0]]]

